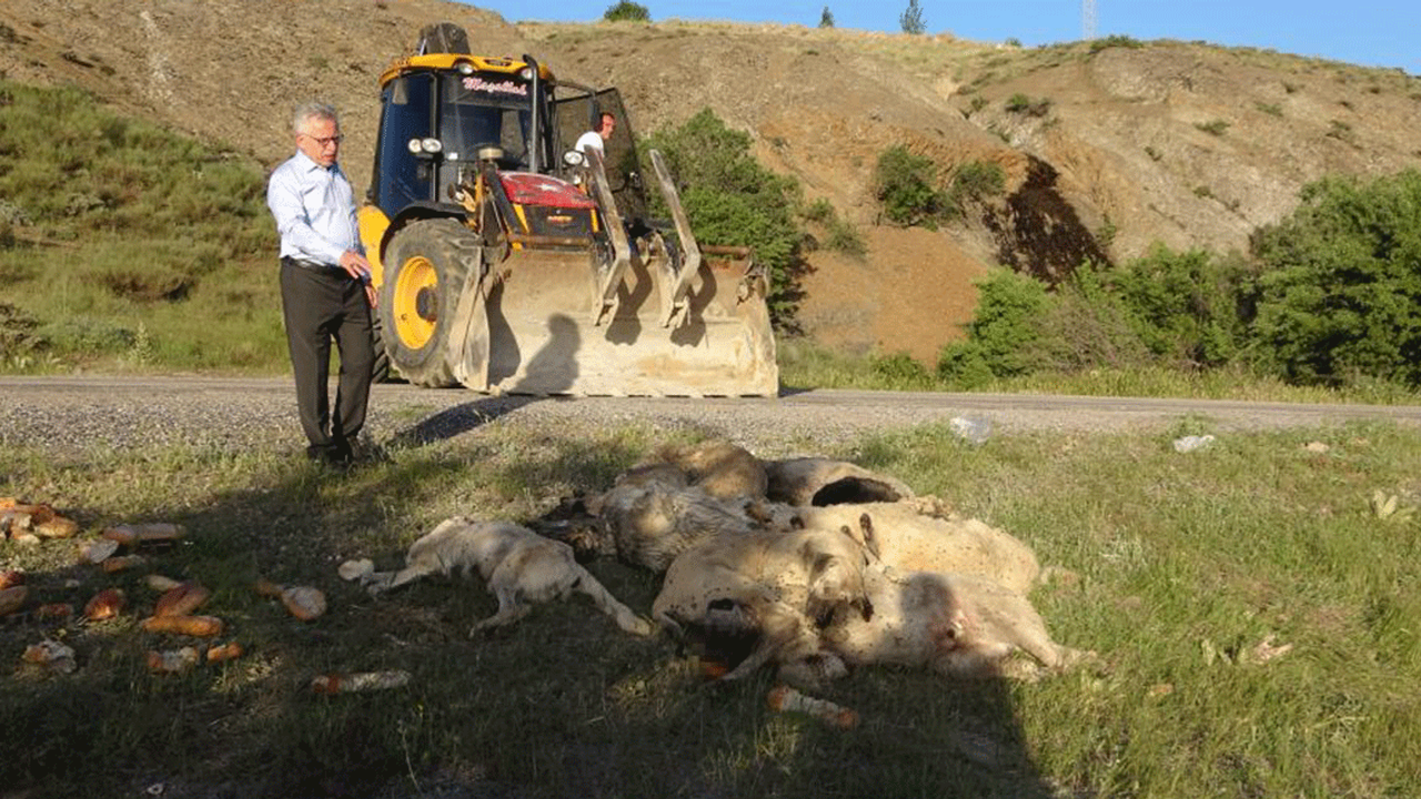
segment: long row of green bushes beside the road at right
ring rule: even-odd
[[[1421,172],[1327,178],[1253,239],[1253,260],[1157,246],[1049,291],[996,273],[938,374],[1243,365],[1293,384],[1421,387]]]

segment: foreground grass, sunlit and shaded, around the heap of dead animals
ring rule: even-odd
[[[764,708],[770,678],[705,684],[669,641],[618,631],[587,603],[546,606],[469,640],[493,610],[477,580],[429,580],[378,601],[335,566],[398,563],[453,513],[526,519],[595,490],[657,444],[485,428],[334,476],[263,448],[0,454],[0,495],[48,500],[85,536],[173,520],[190,536],[151,570],[213,589],[206,613],[244,657],[155,677],[139,574],[72,564],[72,545],[0,543],[34,601],[101,587],[129,610],[84,626],[11,617],[0,663],[44,637],[80,670],[0,685],[0,783],[38,796],[169,790],[240,796],[1410,796],[1421,789],[1421,519],[1383,520],[1376,489],[1421,500],[1421,434],[1380,424],[1221,434],[1206,418],[1130,435],[995,436],[928,427],[851,448],[1030,543],[1073,580],[1033,600],[1101,672],[1034,685],[861,670],[821,692],[864,724],[836,732]],[[1312,441],[1326,452],[1303,448]],[[826,452],[848,455],[847,452]],[[654,576],[594,573],[647,611]],[[300,623],[257,577],[327,591]],[[1269,638],[1272,636],[1272,638]],[[1260,643],[1292,645],[1266,663]],[[13,668],[13,667],[11,667]],[[320,697],[327,671],[402,668],[408,687]]]

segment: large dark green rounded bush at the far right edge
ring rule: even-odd
[[[1253,239],[1270,365],[1302,382],[1421,385],[1421,172],[1326,178],[1300,199]]]

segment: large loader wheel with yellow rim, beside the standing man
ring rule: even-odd
[[[456,385],[450,327],[479,239],[456,219],[404,227],[385,254],[379,317],[391,364],[415,385]]]

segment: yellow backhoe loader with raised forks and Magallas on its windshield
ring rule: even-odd
[[[361,239],[388,363],[418,385],[493,394],[774,395],[767,276],[699,246],[661,154],[651,220],[615,90],[533,57],[472,55],[431,26],[379,78]],[[617,118],[604,152],[577,136]]]

